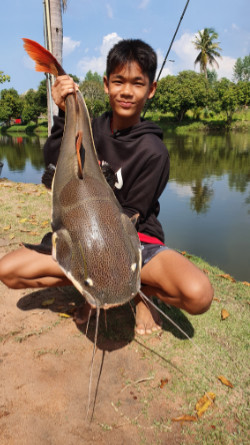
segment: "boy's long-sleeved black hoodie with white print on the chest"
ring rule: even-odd
[[[61,116],[60,116],[61,115]],[[45,164],[56,164],[64,117],[55,118],[51,136],[44,146]],[[139,213],[138,232],[164,241],[159,197],[169,178],[169,154],[162,141],[161,129],[141,121],[125,130],[111,131],[111,114],[104,113],[92,122],[95,146],[100,161],[116,172],[115,195],[129,217]]]

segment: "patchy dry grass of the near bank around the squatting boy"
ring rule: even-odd
[[[50,229],[48,192],[41,185],[6,180],[0,181],[0,191],[1,246],[10,251],[21,241],[40,241]],[[139,365],[144,370],[144,380],[124,380],[124,391],[120,395],[109,394],[109,397],[114,412],[126,422],[129,420],[122,417],[124,394],[136,397],[138,416],[131,419],[131,425],[138,431],[139,444],[165,445],[164,434],[174,432],[177,424],[181,434],[179,444],[248,444],[250,287],[248,283],[236,282],[201,258],[187,256],[208,274],[214,286],[215,297],[210,310],[194,317],[161,304],[161,309],[192,340],[187,340],[168,321],[164,322],[164,330],[160,334],[133,338],[129,348],[137,354]],[[121,321],[117,326],[114,316],[109,317],[108,328],[103,329],[100,335],[117,341],[128,333]],[[150,369],[148,374],[146,369]],[[218,379],[221,375],[231,382],[231,387]],[[207,391],[215,394],[215,400],[199,417],[195,405]],[[153,410],[155,404],[158,410]],[[141,427],[143,423],[147,425],[146,429]],[[107,442],[109,433],[116,428],[119,434],[115,420],[110,419],[110,423],[102,427],[105,428]],[[154,441],[148,439],[147,428],[151,435],[154,434]]]

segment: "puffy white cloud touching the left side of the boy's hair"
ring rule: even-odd
[[[78,63],[79,76],[83,78],[85,74],[91,70],[92,72],[97,72],[103,75],[106,69],[106,58],[109,50],[121,40],[122,37],[118,36],[116,32],[107,34],[103,37],[102,44],[98,49],[100,55],[97,57],[83,57]]]

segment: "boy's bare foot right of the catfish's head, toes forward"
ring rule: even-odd
[[[146,306],[140,297],[136,297],[136,327],[135,332],[139,335],[152,334],[162,329],[162,321],[157,310]]]

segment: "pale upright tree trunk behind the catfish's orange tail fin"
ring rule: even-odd
[[[63,25],[62,11],[66,9],[67,0],[43,0],[44,3],[44,40],[46,48],[62,64],[63,49]],[[50,134],[53,124],[53,115],[58,113],[56,105],[51,98],[51,86],[54,79],[47,77],[47,98],[48,98],[48,134]]]

